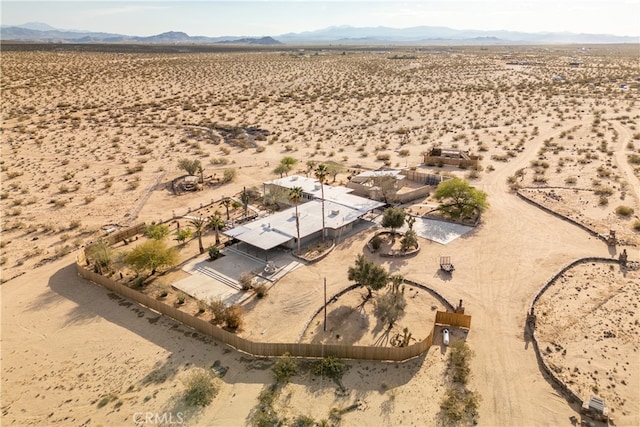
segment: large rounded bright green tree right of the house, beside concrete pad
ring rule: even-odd
[[[468,218],[474,213],[480,214],[489,207],[487,193],[472,187],[460,178],[441,182],[433,197],[442,203],[438,209],[455,219]]]

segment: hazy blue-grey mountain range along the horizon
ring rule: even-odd
[[[559,44],[559,43],[638,43],[638,37],[569,32],[525,33],[517,31],[456,30],[448,27],[328,27],[316,31],[286,33],[277,36],[190,36],[169,31],[140,37],[90,31],[60,30],[30,22],[1,26],[0,40],[48,43],[149,43],[149,44],[251,44],[251,45],[380,45],[380,44]]]

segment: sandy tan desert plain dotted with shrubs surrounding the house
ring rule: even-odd
[[[640,425],[637,45],[3,43],[0,66],[2,425],[595,423],[571,392],[603,398],[611,424]],[[434,147],[468,151],[478,166],[425,164]],[[204,182],[175,192],[184,159],[200,162]],[[419,252],[407,257],[368,249],[379,226],[354,228],[263,297],[245,292],[233,333],[260,343],[402,346],[431,333],[446,301],[462,300],[470,328],[450,333],[471,353],[457,402],[467,399],[467,413],[447,400],[460,386],[440,326],[417,357],[333,360],[335,375],[316,375],[318,359],[238,351],[77,274],[90,242],[166,223],[177,266],[142,278],[124,266],[107,274],[212,319],[210,307],[172,286],[190,276],[189,263],[207,259],[198,237],[174,239],[178,223],[189,227],[198,212],[246,215],[241,204],[217,203],[243,192],[248,211],[266,215],[278,206],[262,203],[263,182],[313,177],[318,164],[331,171],[325,186],[382,168],[458,177],[489,206],[470,232],[446,244],[418,238]],[[400,207],[421,217],[438,206],[435,189]],[[203,230],[206,248],[215,234]],[[110,250],[146,238],[124,240]],[[324,283],[330,297],[354,285],[348,270],[359,255],[407,280],[404,316],[387,328],[355,287],[328,305],[325,331]],[[440,270],[441,256],[455,263],[452,274]],[[190,404],[186,392],[203,372],[213,399]]]

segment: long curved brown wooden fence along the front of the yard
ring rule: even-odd
[[[110,289],[125,298],[134,300],[156,312],[169,316],[172,319],[175,319],[198,332],[213,337],[218,341],[228,344],[239,351],[243,351],[254,356],[278,357],[282,356],[284,353],[289,353],[294,357],[322,358],[326,356],[335,356],[341,359],[403,361],[419,356],[431,347],[436,323],[450,324],[452,326],[460,326],[464,328],[469,328],[469,325],[471,324],[471,316],[438,311],[436,313],[436,321],[434,322],[429,335],[424,340],[407,347],[254,342],[228,332],[206,320],[178,310],[177,308],[165,304],[162,301],[158,301],[155,298],[120,284],[115,280],[88,270],[84,267],[85,262],[84,253],[83,251],[80,251],[78,261],[76,263],[76,270],[81,277]]]

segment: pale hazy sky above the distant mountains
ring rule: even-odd
[[[6,1],[1,23],[136,36],[276,36],[329,26],[419,25],[640,36],[638,0]]]

